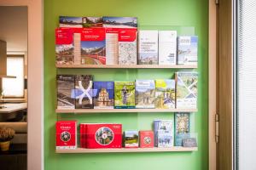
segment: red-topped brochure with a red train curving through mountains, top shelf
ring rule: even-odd
[[[84,28],[81,32],[81,64],[106,65],[104,28]]]

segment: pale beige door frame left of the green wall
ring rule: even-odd
[[[27,169],[44,169],[44,0],[2,0],[28,10]],[[37,95],[35,95],[37,94]]]

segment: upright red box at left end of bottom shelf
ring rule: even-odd
[[[56,122],[56,149],[77,148],[77,122]]]

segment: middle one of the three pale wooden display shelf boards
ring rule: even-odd
[[[157,113],[157,112],[196,112],[197,109],[74,109],[60,110],[56,113]]]

